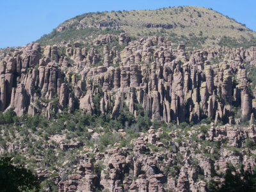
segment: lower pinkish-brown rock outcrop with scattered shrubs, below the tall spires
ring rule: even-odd
[[[209,129],[202,131],[204,126]],[[123,132],[120,130],[119,134]],[[201,125],[201,128],[193,127],[187,136],[179,129],[169,132],[168,139],[163,139],[161,134],[162,129],[150,127],[147,133],[131,140],[131,147],[120,147],[120,143],[116,143],[105,152],[99,152],[97,145],[90,149],[84,147],[86,153],[79,156],[74,173],[58,183],[59,191],[95,191],[97,186],[102,191],[113,192],[203,192],[209,191],[210,180],[221,184],[231,165],[239,170],[244,164],[243,170],[249,173],[253,173],[256,166],[255,156],[248,156],[245,145],[246,140],[256,139],[254,125],[243,129]],[[180,134],[186,140],[180,141]],[[216,143],[220,145],[217,147]],[[242,154],[231,150],[242,147]],[[255,150],[251,152],[255,154]]]

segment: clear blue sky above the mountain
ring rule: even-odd
[[[184,5],[212,8],[256,31],[255,0],[0,0],[0,47],[26,45],[51,33],[61,22],[86,12],[154,10]]]

